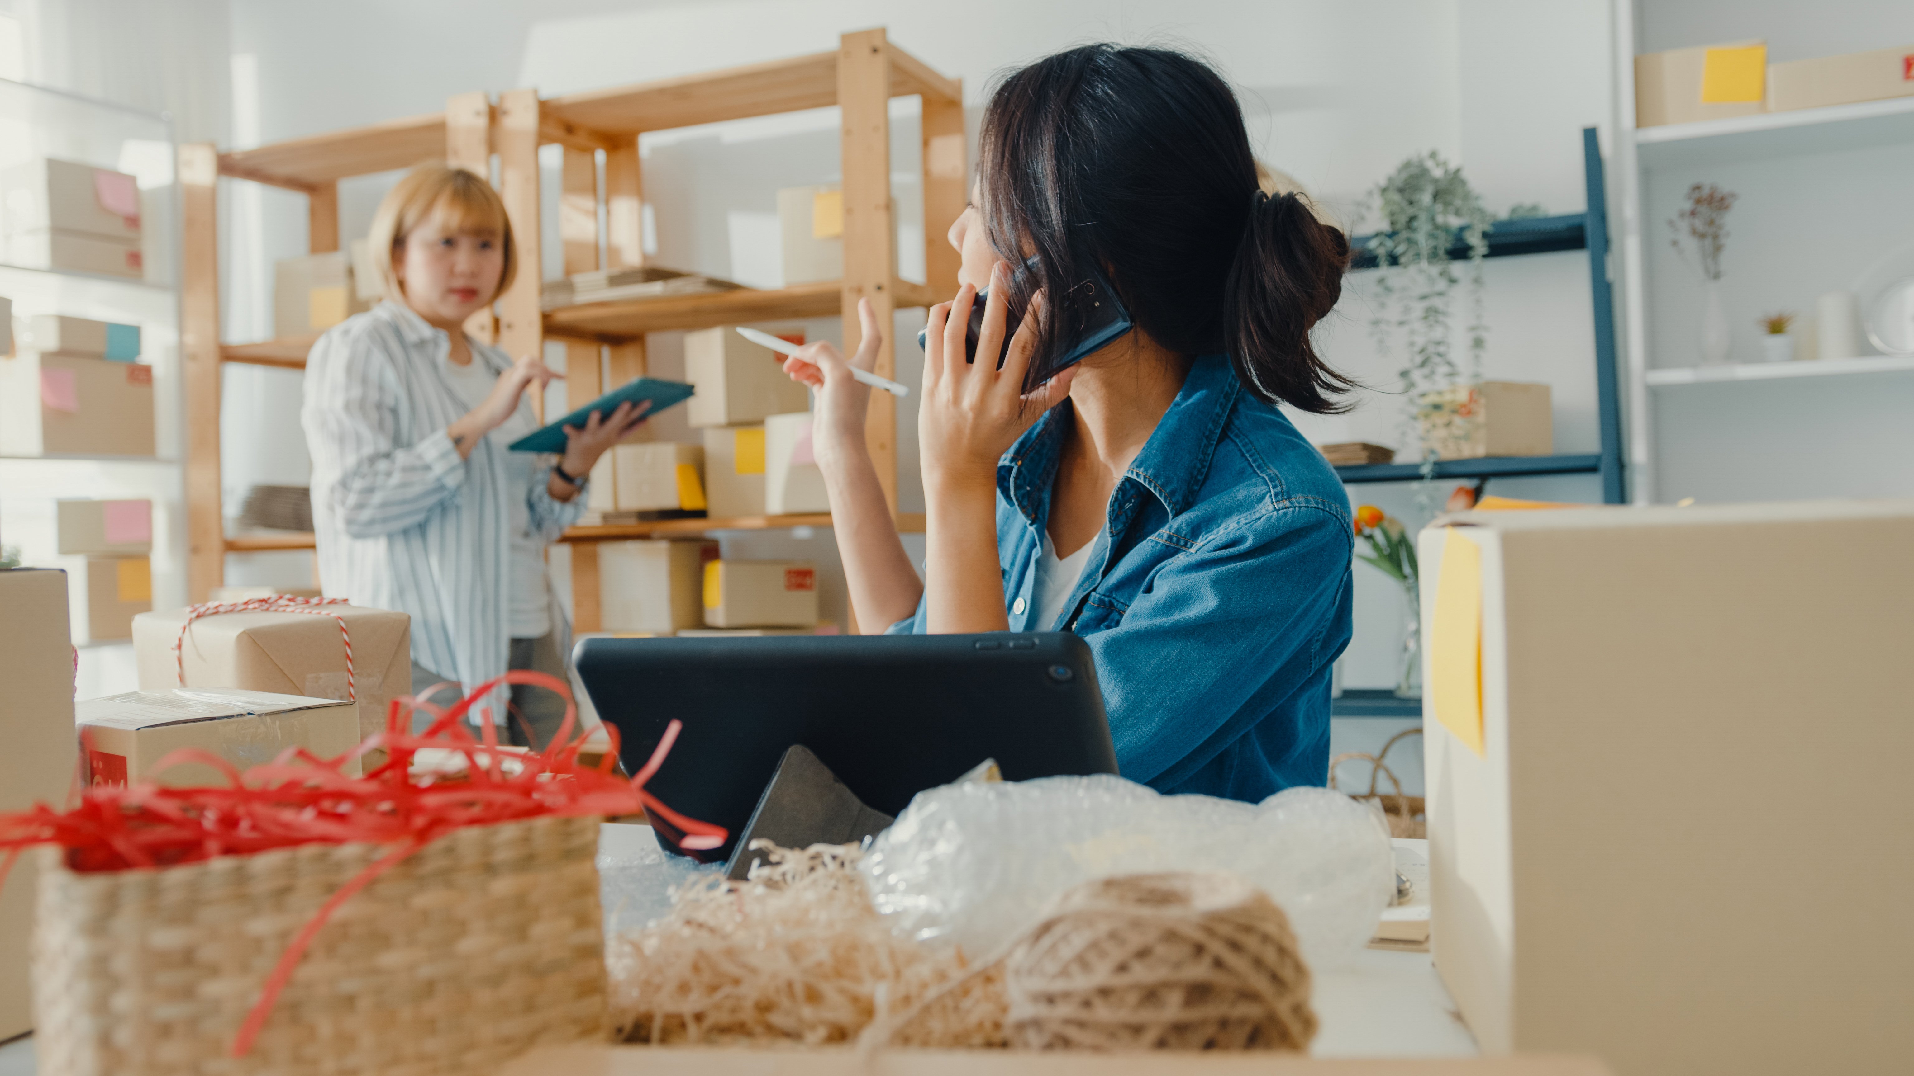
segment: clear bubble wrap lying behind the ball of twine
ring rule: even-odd
[[[1311,967],[1347,963],[1395,892],[1382,818],[1328,789],[1261,804],[1164,796],[1122,777],[944,785],[871,844],[877,909],[917,940],[988,957],[1066,888],[1146,871],[1233,871],[1290,917]]]

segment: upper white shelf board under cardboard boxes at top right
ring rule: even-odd
[[[1650,170],[1836,153],[1897,142],[1914,142],[1914,98],[1635,130],[1635,151]]]

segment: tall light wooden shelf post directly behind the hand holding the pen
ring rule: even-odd
[[[890,203],[890,42],[882,29],[838,38],[838,111],[844,121],[844,352],[857,350],[863,322],[857,301],[869,299],[884,343],[877,375],[896,377],[896,245]],[[926,199],[928,201],[928,199]],[[928,249],[928,235],[926,249]],[[890,392],[871,392],[865,442],[890,511],[898,511],[898,406]]]

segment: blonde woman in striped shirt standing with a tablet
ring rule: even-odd
[[[559,375],[463,331],[519,268],[482,178],[415,168],[379,205],[371,251],[385,303],[306,360],[300,423],[325,595],[412,615],[413,691],[469,689],[507,668],[565,678],[545,544],[582,511],[591,463],[641,415],[620,406],[567,427],[557,460],[507,450],[536,429],[528,389]],[[515,689],[511,710],[523,718],[505,722],[511,741],[534,747],[563,718],[540,689]]]

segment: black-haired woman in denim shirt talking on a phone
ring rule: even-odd
[[[1257,188],[1215,71],[1099,44],[997,88],[949,241],[961,287],[930,310],[919,412],[923,582],[848,373],[877,356],[869,308],[856,356],[819,343],[785,366],[817,389],[857,620],[1076,632],[1125,777],[1240,800],[1321,785],[1353,534],[1342,482],[1279,404],[1338,412],[1351,385],[1309,339],[1342,293],[1342,232]],[[1066,364],[1093,320],[1072,301],[1085,281],[1108,281],[1133,327]]]

